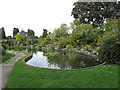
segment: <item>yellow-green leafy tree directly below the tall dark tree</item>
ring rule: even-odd
[[[96,45],[98,36],[101,35],[102,30],[100,28],[93,28],[89,24],[81,24],[74,27],[73,33],[70,35],[70,38],[74,46],[77,45],[86,45],[92,44]]]

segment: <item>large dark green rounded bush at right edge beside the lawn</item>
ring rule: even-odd
[[[113,63],[120,61],[120,44],[117,43],[118,38],[112,36],[103,41],[98,50],[100,61]]]

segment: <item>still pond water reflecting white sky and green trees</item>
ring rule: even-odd
[[[26,64],[51,69],[80,69],[99,65],[100,62],[95,58],[81,54],[69,59],[65,53],[58,53],[51,56],[49,53],[37,51],[33,52],[33,57]]]

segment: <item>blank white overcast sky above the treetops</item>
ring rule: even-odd
[[[0,0],[0,27],[6,36],[12,35],[13,28],[34,30],[36,36],[43,28],[52,32],[65,23],[70,26],[73,4],[78,0]]]

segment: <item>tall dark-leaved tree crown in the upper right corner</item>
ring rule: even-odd
[[[75,2],[72,15],[81,23],[101,26],[106,18],[120,17],[120,1],[117,2]]]

